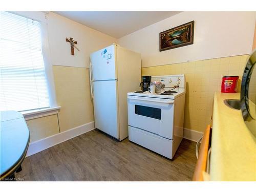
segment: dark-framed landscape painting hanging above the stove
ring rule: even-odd
[[[192,22],[159,33],[159,51],[193,44],[194,23],[195,21],[193,20]]]

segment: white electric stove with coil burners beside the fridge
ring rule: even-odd
[[[183,138],[185,76],[152,76],[151,81],[165,84],[161,93],[173,93],[127,93],[129,140],[172,159]]]

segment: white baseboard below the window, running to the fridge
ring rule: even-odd
[[[67,130],[65,132],[61,132],[44,139],[34,141],[29,144],[26,157],[44,151],[49,147],[52,147],[56,144],[62,143],[64,141],[72,139],[73,137],[76,137],[78,135],[84,134],[92,130],[94,130],[94,121],[74,127],[73,129]]]

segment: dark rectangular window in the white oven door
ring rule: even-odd
[[[150,106],[135,105],[135,114],[154,119],[161,119],[161,109],[151,108]]]

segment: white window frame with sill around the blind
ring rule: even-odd
[[[43,116],[48,116],[52,114],[57,114],[60,106],[57,105],[54,77],[53,77],[53,68],[50,57],[50,47],[49,47],[49,38],[48,38],[48,29],[47,29],[47,15],[49,12],[43,11],[8,11],[10,13],[30,18],[40,22],[41,25],[41,44],[42,44],[42,56],[44,58],[45,72],[47,78],[47,87],[49,93],[49,108],[45,109],[35,109],[28,111],[21,111],[26,120],[39,118]]]

